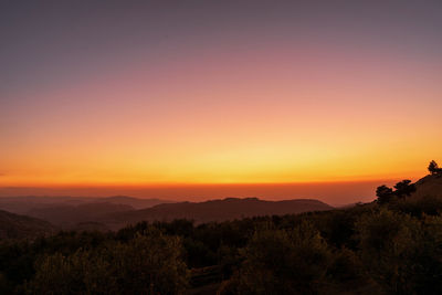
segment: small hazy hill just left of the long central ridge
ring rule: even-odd
[[[134,210],[135,209],[128,204],[115,204],[109,202],[84,203],[78,206],[54,204],[30,210],[28,215],[46,220],[59,226],[71,228],[76,223],[96,221],[104,214],[130,212]]]

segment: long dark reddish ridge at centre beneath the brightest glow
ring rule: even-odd
[[[158,204],[149,209],[108,214],[105,223],[113,228],[139,221],[170,221],[173,219],[190,219],[197,223],[202,223],[246,217],[282,215],[330,209],[333,207],[322,201],[308,199],[264,201],[257,198],[228,198],[206,202]]]

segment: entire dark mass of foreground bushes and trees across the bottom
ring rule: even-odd
[[[411,187],[410,187],[411,186]],[[442,294],[442,200],[0,244],[0,294]]]

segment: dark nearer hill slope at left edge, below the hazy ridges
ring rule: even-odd
[[[0,210],[0,240],[33,239],[55,231],[56,228],[48,221]]]

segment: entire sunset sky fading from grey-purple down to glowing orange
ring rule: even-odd
[[[334,201],[327,183],[357,182],[357,201],[417,180],[442,161],[440,15],[408,0],[2,1],[0,194],[313,183],[281,196]]]

